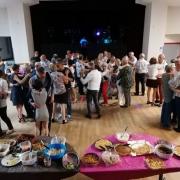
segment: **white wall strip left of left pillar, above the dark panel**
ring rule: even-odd
[[[0,7],[0,36],[10,36],[7,9],[1,7]]]

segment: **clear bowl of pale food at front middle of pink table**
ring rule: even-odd
[[[120,162],[119,155],[111,151],[104,151],[101,155],[101,158],[107,166],[115,165]]]

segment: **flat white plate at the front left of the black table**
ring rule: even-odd
[[[8,156],[5,156],[1,160],[2,166],[11,167],[19,164],[21,162],[20,157],[13,156],[12,154],[9,154]]]

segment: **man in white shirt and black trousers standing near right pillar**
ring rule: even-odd
[[[139,55],[139,60],[135,64],[135,82],[136,82],[136,92],[135,95],[139,96],[139,83],[141,83],[141,93],[144,96],[145,93],[145,78],[147,74],[148,62],[145,60],[145,54],[141,53]]]

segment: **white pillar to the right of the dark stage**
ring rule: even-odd
[[[163,51],[168,5],[156,0],[146,5],[143,35],[143,52],[149,60]]]

